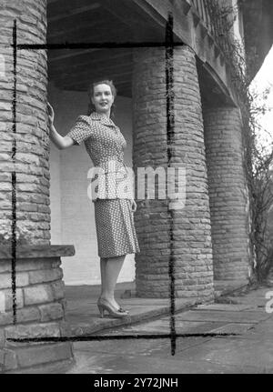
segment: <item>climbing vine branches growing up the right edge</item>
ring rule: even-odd
[[[262,281],[268,276],[273,266],[272,234],[268,231],[268,212],[273,206],[273,178],[270,166],[273,162],[273,149],[266,153],[266,147],[260,143],[258,132],[261,126],[258,117],[268,110],[269,90],[262,96],[249,87],[251,77],[248,70],[253,64],[246,63],[244,43],[239,42],[232,33],[232,26],[238,15],[238,6],[220,5],[217,0],[205,0],[209,13],[211,30],[224,56],[231,85],[237,97],[243,123],[243,146],[245,173],[248,181],[249,199],[249,236],[252,253],[252,280]],[[256,55],[248,59],[257,61]]]

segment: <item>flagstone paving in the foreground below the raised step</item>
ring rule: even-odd
[[[167,321],[166,318],[163,322]],[[156,321],[160,325],[161,320]],[[145,323],[145,326],[156,321]],[[169,338],[76,343],[76,366],[67,373],[273,374],[272,323],[273,317],[268,317],[268,320],[254,325],[254,329],[249,329],[251,324],[237,323],[212,329],[238,332],[244,335],[241,338],[178,337],[175,356],[171,354]],[[201,324],[206,326],[206,323]],[[137,327],[131,326],[135,330]],[[111,330],[108,335],[114,333],[116,331]]]

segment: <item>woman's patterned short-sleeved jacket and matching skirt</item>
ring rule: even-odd
[[[92,201],[98,256],[140,252],[131,207],[132,181],[124,165],[126,139],[119,127],[110,118],[93,112],[90,116],[78,116],[66,136],[77,145],[84,141],[94,163]]]

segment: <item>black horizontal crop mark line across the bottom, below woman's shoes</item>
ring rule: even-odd
[[[238,337],[240,334],[227,332],[207,332],[203,334],[176,334],[177,337]],[[84,337],[24,337],[12,338],[8,337],[9,342],[20,343],[39,343],[39,342],[92,342],[96,340],[137,340],[137,339],[168,339],[172,338],[172,334],[134,334],[134,335],[93,335]]]

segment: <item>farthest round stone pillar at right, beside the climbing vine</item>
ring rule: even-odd
[[[246,280],[250,260],[248,188],[238,108],[204,108],[207,173],[217,280]]]

